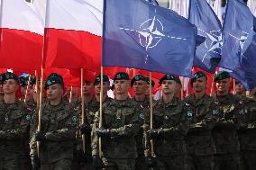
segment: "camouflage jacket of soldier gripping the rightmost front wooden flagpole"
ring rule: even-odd
[[[150,127],[150,117],[147,117]],[[183,101],[174,97],[171,103],[162,99],[153,107],[153,129],[163,129],[164,138],[154,139],[153,146],[156,156],[177,156],[186,154],[184,137],[187,134],[187,107]],[[146,130],[146,129],[145,129]],[[149,129],[148,129],[149,130]],[[151,153],[151,142],[146,136],[146,153]]]

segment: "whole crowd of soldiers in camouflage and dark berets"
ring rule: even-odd
[[[216,94],[209,96],[207,76],[197,72],[194,93],[181,100],[180,80],[165,75],[161,98],[151,103],[148,77],[130,81],[119,72],[111,87],[108,76],[101,84],[98,75],[84,82],[82,107],[79,98],[69,103],[63,97],[63,78],[52,73],[38,114],[36,92],[27,100],[15,95],[19,85],[33,89],[35,83],[28,87],[6,72],[0,75],[0,170],[254,170],[256,88],[246,96],[238,83],[238,94],[231,94],[230,78],[216,74]],[[114,99],[107,96],[110,89]]]

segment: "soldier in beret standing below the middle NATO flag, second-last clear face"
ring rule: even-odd
[[[191,78],[194,94],[185,98],[189,110],[189,130],[186,137],[188,170],[214,170],[215,144],[212,130],[215,126],[215,103],[206,94],[207,77],[197,72]]]

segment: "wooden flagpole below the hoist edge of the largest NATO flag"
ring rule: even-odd
[[[99,100],[99,128],[102,128],[102,99],[103,99],[103,67],[100,67],[100,100]],[[98,150],[99,150],[99,157],[102,157],[102,140],[98,138]]]

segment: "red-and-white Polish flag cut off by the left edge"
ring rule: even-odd
[[[33,4],[2,0],[0,67],[41,67],[44,25]]]

